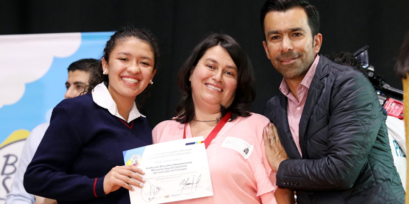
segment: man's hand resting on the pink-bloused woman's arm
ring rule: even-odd
[[[289,158],[281,144],[277,128],[274,124],[270,123],[264,128],[263,139],[268,164],[273,171],[277,172],[280,163]]]

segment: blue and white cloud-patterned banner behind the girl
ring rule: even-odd
[[[112,32],[0,35],[0,204],[25,139],[64,99],[67,67],[99,59]]]

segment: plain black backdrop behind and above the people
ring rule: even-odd
[[[404,34],[409,30],[409,1],[309,2],[321,15],[321,54],[353,53],[369,45],[375,73],[391,86],[402,89],[393,67]],[[263,3],[264,0],[3,0],[0,1],[0,35],[115,31],[128,25],[150,29],[160,42],[162,54],[152,97],[144,110],[153,127],[173,116],[180,97],[175,85],[177,70],[193,47],[211,32],[233,36],[246,50],[257,85],[251,111],[263,111],[282,80],[266,58],[261,43],[259,12]]]

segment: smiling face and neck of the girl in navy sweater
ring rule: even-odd
[[[147,42],[127,37],[115,46],[109,59],[109,62],[102,59],[103,70],[108,74],[108,91],[119,114],[127,120],[135,97],[145,90],[155,75],[155,56]]]

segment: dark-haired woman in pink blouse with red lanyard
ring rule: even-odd
[[[262,137],[269,120],[247,111],[255,98],[253,70],[237,41],[224,34],[208,36],[177,79],[183,93],[178,119],[156,125],[153,143],[203,136],[214,195],[176,203],[277,203],[276,197],[281,203],[279,197],[293,196],[276,191],[270,181],[275,173]]]

